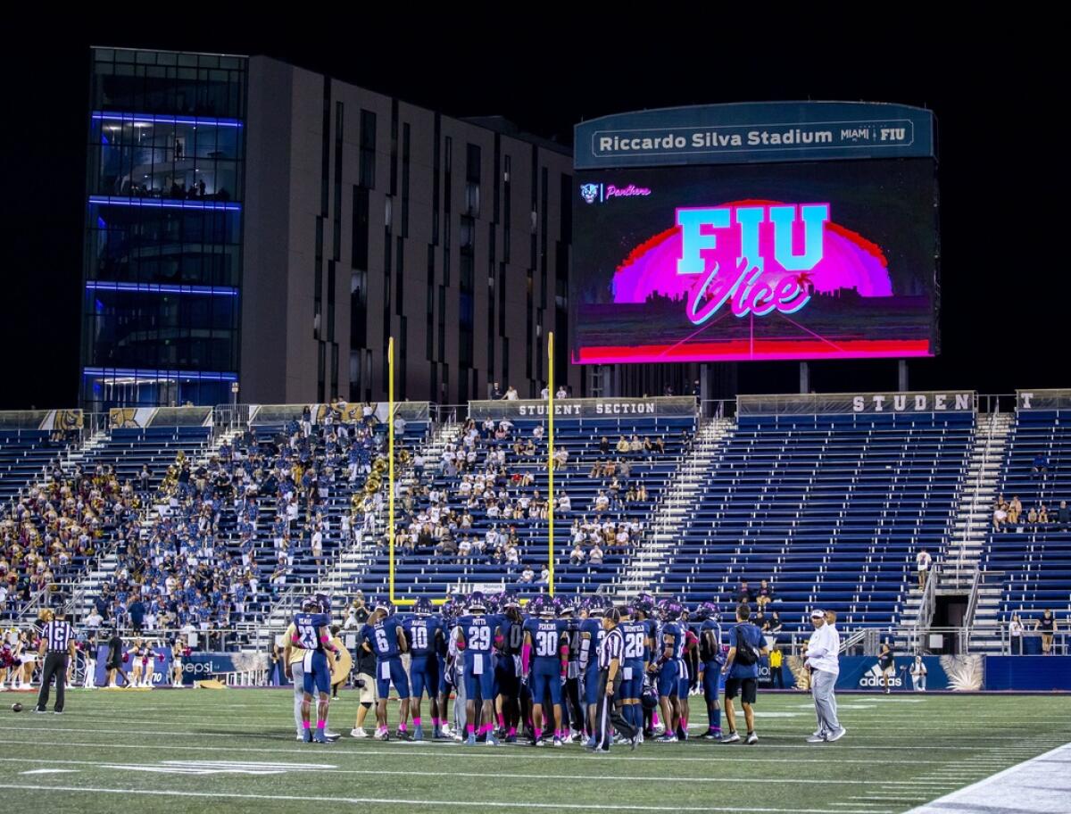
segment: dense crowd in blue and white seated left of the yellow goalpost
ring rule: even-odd
[[[359,423],[342,420],[345,407],[318,424],[306,408],[271,438],[248,429],[206,463],[180,454],[161,486],[168,510],[125,538],[94,600],[102,622],[227,628],[262,613],[296,568],[322,567],[333,514],[343,516],[336,537],[349,534],[349,497],[363,495],[383,454],[371,406]]]

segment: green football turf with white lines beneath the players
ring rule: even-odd
[[[0,709],[14,700],[32,704],[4,693]],[[0,717],[0,788],[19,811],[49,812],[262,814],[308,811],[302,800],[319,798],[313,810],[376,814],[432,808],[892,814],[1071,741],[1067,697],[850,695],[840,699],[847,737],[812,747],[804,742],[814,728],[809,702],[804,694],[760,697],[757,747],[693,740],[589,755],[578,745],[355,740],[348,734],[358,705],[346,693],[331,713],[331,725],[346,737],[314,747],[293,740],[288,691],[74,691],[64,715]],[[702,706],[693,698],[693,728],[705,721]],[[392,706],[392,729],[396,711]],[[424,714],[427,726],[426,707]],[[210,773],[183,773],[206,767],[182,762],[289,768],[251,774],[215,765]]]

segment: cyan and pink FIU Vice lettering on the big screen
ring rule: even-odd
[[[703,275],[688,318],[703,325],[726,303],[738,317],[798,312],[811,300],[828,221],[828,204],[678,209],[677,274]]]

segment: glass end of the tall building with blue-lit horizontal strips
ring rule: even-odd
[[[238,380],[246,60],[96,48],[81,401],[222,404]]]

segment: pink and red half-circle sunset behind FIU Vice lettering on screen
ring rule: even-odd
[[[839,225],[831,209],[828,220],[820,226],[811,224],[814,228],[811,239],[820,233],[818,247],[808,245],[809,233],[799,216],[801,208],[795,207],[790,237],[781,237],[782,241],[790,240],[782,246],[781,257],[795,268],[786,269],[779,263],[774,251],[775,228],[767,215],[771,207],[781,207],[784,212],[786,206],[794,205],[771,200],[719,205],[716,209],[730,212],[730,225],[712,228],[705,224],[699,228],[704,236],[713,236],[712,240],[706,238],[708,243],[715,243],[698,253],[702,273],[679,273],[682,268],[679,262],[685,251],[685,227],[675,225],[652,236],[617,267],[612,284],[614,302],[644,303],[652,297],[681,300],[688,319],[700,325],[715,313],[720,315],[725,311],[739,317],[778,312],[794,314],[805,308],[814,296],[835,296],[844,290],[854,290],[861,297],[892,296],[888,260],[881,248]],[[761,220],[757,226],[757,262],[744,256],[755,253],[754,230],[751,251],[745,252],[746,229],[738,224],[738,218],[743,220],[748,212],[752,218]],[[680,223],[680,211],[677,216]],[[790,258],[784,253],[789,245]],[[815,260],[813,265],[800,261],[808,252]],[[692,253],[695,253],[694,247]]]

